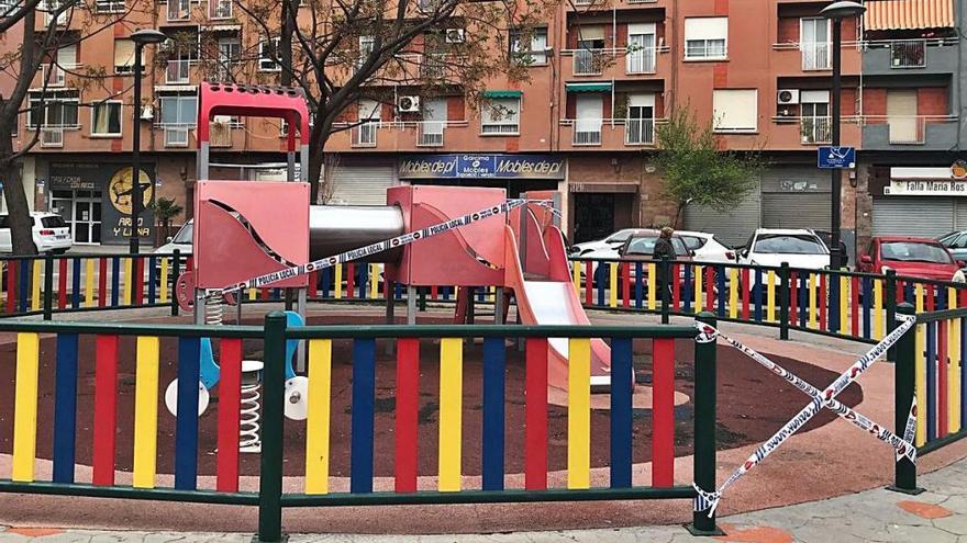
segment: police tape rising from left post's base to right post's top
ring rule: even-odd
[[[856,381],[863,373],[872,365],[874,362],[879,360],[880,357],[886,354],[887,350],[889,350],[893,344],[900,340],[900,338],[907,333],[910,328],[916,324],[916,318],[907,315],[897,315],[897,320],[901,321],[901,325],[898,326],[893,331],[891,331],[887,337],[885,337],[879,343],[875,344],[869,351],[866,352],[863,357],[860,357],[853,365],[846,370],[843,374],[841,374],[836,381],[834,381],[830,386],[827,386],[824,391],[820,392],[818,396],[813,396],[813,400],[810,404],[802,408],[799,414],[797,414],[792,419],[787,422],[782,428],[779,429],[771,438],[769,438],[766,442],[758,446],[758,449],[746,459],[745,463],[738,466],[732,475],[714,491],[707,491],[699,488],[698,485],[692,485],[698,493],[698,497],[694,500],[694,508],[697,511],[703,511],[705,509],[709,510],[709,517],[715,512],[715,508],[719,507],[719,501],[722,499],[722,494],[726,488],[732,486],[740,477],[748,473],[753,467],[758,465],[763,460],[766,459],[769,454],[773,453],[776,449],[779,448],[786,440],[788,440],[792,434],[794,434],[800,428],[802,428],[807,422],[810,421],[818,412],[820,412],[823,407],[829,406],[829,403],[835,398],[844,388],[849,386],[851,383]],[[704,330],[705,325],[699,327],[699,336],[696,338],[698,341],[714,341],[714,333],[709,333]],[[712,330],[714,328],[709,327]],[[812,396],[812,395],[811,395]],[[911,409],[911,414],[915,414],[915,410]],[[907,432],[909,433],[910,420],[907,422]],[[909,441],[909,440],[908,440]]]

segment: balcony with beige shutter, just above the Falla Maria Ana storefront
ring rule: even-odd
[[[899,150],[915,146],[923,150],[947,150],[957,140],[957,117],[947,115],[865,115],[863,147]]]

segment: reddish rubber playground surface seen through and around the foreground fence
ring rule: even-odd
[[[338,323],[373,323],[378,310],[370,315],[349,312],[340,315]],[[311,315],[310,323],[331,320],[327,315]],[[422,315],[422,314],[421,314]],[[431,314],[426,321],[446,320],[443,313]],[[596,324],[642,323],[641,316],[591,314]],[[257,321],[255,318],[253,323]],[[748,331],[746,333],[746,331]],[[770,333],[765,337],[765,333]],[[763,332],[749,327],[730,329],[730,336],[766,353],[788,370],[818,386],[832,382],[845,370],[855,354],[834,350],[813,342],[771,339],[774,331]],[[810,336],[804,336],[810,341]],[[0,338],[0,361],[13,361],[13,338]],[[851,346],[852,351],[858,347]],[[53,393],[53,341],[42,340],[41,412],[38,459],[51,456],[51,401]],[[258,342],[245,344],[246,355],[260,358]],[[177,344],[162,341],[162,386],[175,377],[174,360]],[[81,340],[81,382],[78,386],[78,463],[90,459],[90,428],[92,401],[92,341]],[[134,363],[133,339],[121,342],[119,391],[119,484],[130,482],[133,435]],[[332,409],[332,489],[347,488],[351,343],[334,341],[333,346],[333,409]],[[467,488],[479,487],[480,473],[480,353],[481,346],[467,342],[464,348],[463,405],[463,473]],[[676,484],[691,482],[691,416],[690,393],[692,343],[676,344],[676,391],[685,403],[676,407]],[[377,414],[375,471],[376,489],[392,487],[393,419],[392,386],[394,359],[378,347]],[[438,387],[438,346],[433,341],[421,344],[420,382],[420,487],[434,488],[436,473],[436,397]],[[47,378],[44,378],[45,371]],[[647,382],[651,373],[651,344],[635,343],[635,371],[638,382]],[[11,412],[13,364],[0,363],[0,412]],[[522,487],[523,476],[523,353],[508,347],[507,391],[507,486]],[[799,411],[808,398],[782,380],[771,375],[745,355],[730,347],[719,346],[719,480],[720,483],[762,441],[767,439]],[[216,392],[216,391],[215,391]],[[214,486],[216,394],[209,411],[201,418],[199,437],[199,486]],[[892,365],[875,364],[858,382],[840,397],[875,421],[892,422]],[[553,399],[552,399],[553,401]],[[45,410],[46,409],[46,410]],[[549,485],[564,486],[566,472],[566,408],[548,407],[551,442]],[[592,412],[592,485],[608,484],[607,410]],[[174,452],[174,417],[159,406],[158,472],[171,472]],[[0,419],[0,473],[9,473],[10,435],[12,421]],[[634,480],[645,485],[649,477],[651,415],[649,409],[634,411]],[[921,473],[935,470],[963,456],[964,443],[947,446],[921,459]],[[301,491],[302,456],[304,456],[304,423],[286,423],[286,491]],[[37,475],[49,477],[51,464],[38,460]],[[243,455],[242,489],[257,486],[257,455]],[[720,514],[797,504],[827,498],[886,485],[892,473],[892,451],[883,443],[864,434],[845,421],[834,420],[827,412],[811,422],[804,432],[792,437],[773,456],[755,471],[740,479],[725,495]],[[90,471],[80,467],[78,480],[90,479]],[[170,485],[169,475],[159,475],[162,486]],[[69,501],[68,501],[69,500]],[[64,506],[70,504],[69,508]],[[285,525],[291,532],[363,532],[363,533],[455,533],[509,530],[558,530],[569,528],[643,525],[685,522],[690,519],[690,504],[683,501],[608,501],[571,504],[480,505],[480,506],[407,506],[371,508],[292,509],[285,512]],[[167,502],[137,502],[99,500],[93,498],[58,498],[23,496],[4,499],[0,507],[0,523],[12,525],[91,525],[123,529],[224,530],[252,531],[256,517],[253,508],[208,505],[178,505]]]

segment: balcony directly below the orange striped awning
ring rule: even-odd
[[[863,44],[863,72],[870,76],[954,73],[957,71],[957,38],[885,39]]]

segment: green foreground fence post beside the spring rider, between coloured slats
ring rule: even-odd
[[[286,314],[265,317],[265,369],[262,387],[262,459],[258,477],[258,540],[282,535],[282,423],[286,395]]]

